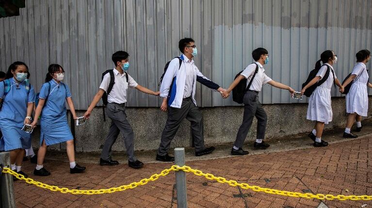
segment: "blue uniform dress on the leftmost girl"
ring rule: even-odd
[[[0,110],[0,151],[13,149],[29,149],[31,134],[22,131],[27,116],[27,104],[35,102],[33,86],[28,82],[16,83],[14,78],[8,79],[9,92],[4,98],[4,82],[0,82],[0,98],[3,99]],[[7,90],[8,91],[8,90]]]

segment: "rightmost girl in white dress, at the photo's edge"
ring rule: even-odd
[[[356,64],[348,79],[342,84],[343,87],[350,82],[353,84],[350,87],[349,93],[346,94],[346,113],[348,117],[346,120],[346,128],[343,133],[344,138],[356,138],[350,132],[356,120],[356,132],[362,129],[362,116],[367,116],[368,111],[368,92],[367,87],[372,88],[372,84],[368,82],[368,70],[366,63],[371,59],[371,52],[369,50],[361,50],[356,53]]]

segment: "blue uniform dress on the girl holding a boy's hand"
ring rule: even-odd
[[[41,111],[40,145],[43,140],[49,145],[73,139],[67,122],[66,98],[71,97],[68,86],[54,80],[45,83],[39,93],[39,99],[47,99]]]

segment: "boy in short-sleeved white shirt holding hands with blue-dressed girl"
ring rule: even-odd
[[[150,89],[142,87],[127,73],[129,69],[129,54],[125,51],[117,51],[112,57],[115,67],[113,68],[114,85],[110,93],[107,95],[107,116],[111,119],[111,127],[107,135],[105,144],[102,149],[100,165],[117,165],[117,161],[111,158],[111,148],[116,141],[117,136],[121,132],[123,135],[125,147],[128,155],[128,165],[132,168],[141,168],[144,163],[137,160],[134,156],[134,133],[129,124],[127,115],[125,114],[125,104],[127,103],[127,90],[128,88],[135,88],[151,95],[159,95],[159,92],[154,92]],[[128,82],[127,82],[128,74]],[[102,98],[103,93],[107,92],[110,84],[110,74],[104,75],[101,85],[96,96],[93,98],[92,103],[89,105],[88,110],[85,112],[84,117],[89,119],[94,107]]]

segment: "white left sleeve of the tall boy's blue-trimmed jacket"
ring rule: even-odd
[[[160,97],[166,98],[168,97],[169,89],[171,87],[173,77],[177,74],[179,68],[179,59],[175,58],[171,60],[168,65],[168,69],[165,72],[162,80],[162,84],[160,86]]]

